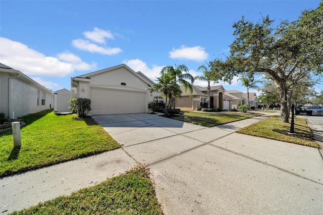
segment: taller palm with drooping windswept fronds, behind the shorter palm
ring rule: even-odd
[[[176,66],[176,65],[175,65]],[[172,67],[172,66],[166,66],[160,71],[160,75],[163,75],[165,73],[170,73],[171,75],[175,76],[175,81],[184,86],[185,92],[187,89],[190,90],[190,95],[193,93],[193,87],[192,84],[194,82],[194,77],[189,73],[188,68],[182,64],[178,67]],[[176,97],[173,97],[174,103],[173,103],[173,109],[175,109],[175,99]]]

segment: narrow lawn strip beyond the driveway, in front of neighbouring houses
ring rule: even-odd
[[[257,113],[239,113],[239,112],[194,112],[183,111],[183,115],[173,117],[172,119],[181,120],[205,127],[213,127],[234,121],[244,120],[259,116]]]

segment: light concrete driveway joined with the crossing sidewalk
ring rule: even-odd
[[[0,179],[2,214],[146,164],[165,214],[322,214],[317,149],[149,114],[94,116],[122,149]]]

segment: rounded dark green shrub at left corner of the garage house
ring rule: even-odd
[[[72,114],[77,114],[80,118],[85,118],[92,110],[91,99],[89,98],[71,98],[69,100]]]

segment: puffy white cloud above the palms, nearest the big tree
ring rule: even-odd
[[[208,53],[205,52],[205,48],[201,46],[186,47],[182,45],[178,49],[170,51],[170,58],[181,60],[192,60],[197,62],[205,61],[208,58]]]

